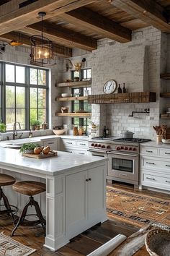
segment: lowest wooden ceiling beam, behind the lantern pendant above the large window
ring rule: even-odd
[[[11,32],[6,33],[4,35],[0,35],[2,40],[11,41],[11,40],[19,40],[19,42],[23,43],[24,46],[30,46],[30,36],[28,35],[21,35],[21,33]],[[65,46],[59,46],[58,44],[54,43],[54,54],[61,56],[61,57],[71,57],[72,56],[72,49],[67,48]]]

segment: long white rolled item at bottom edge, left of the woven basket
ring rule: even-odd
[[[123,234],[118,234],[114,238],[110,239],[107,243],[102,244],[101,247],[95,249],[87,256],[107,256],[113,249],[120,245],[123,241],[127,239]]]

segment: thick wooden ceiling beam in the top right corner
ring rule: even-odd
[[[168,13],[155,0],[114,0],[112,4],[148,25],[153,25],[164,32],[170,32]]]

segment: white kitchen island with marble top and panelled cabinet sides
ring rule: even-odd
[[[106,217],[106,158],[58,152],[58,156],[27,158],[19,150],[0,148],[1,173],[18,181],[46,183],[46,193],[36,200],[45,208],[45,247],[56,250],[69,239],[89,229]],[[12,205],[23,208],[27,197],[17,195],[11,186],[5,193]],[[17,233],[17,232],[16,232]]]

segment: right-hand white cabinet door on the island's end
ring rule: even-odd
[[[104,167],[93,168],[88,174],[88,218],[91,221],[97,220],[105,207],[104,174]]]

